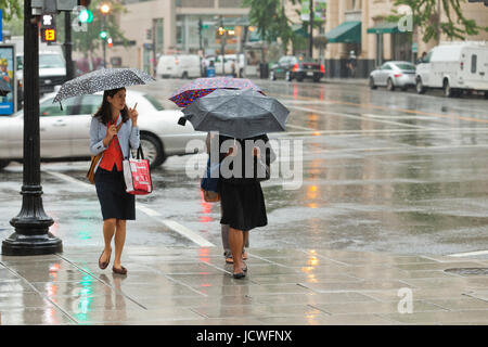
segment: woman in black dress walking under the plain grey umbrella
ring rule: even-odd
[[[219,136],[220,180],[219,192],[222,208],[221,224],[229,224],[229,244],[234,259],[233,277],[245,277],[247,266],[242,259],[246,232],[268,224],[265,196],[260,180],[269,168],[274,153],[266,134],[249,139],[233,139]],[[259,163],[262,163],[259,165]],[[246,169],[247,164],[247,169]],[[252,166],[249,167],[249,164]]]

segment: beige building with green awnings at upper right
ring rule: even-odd
[[[395,0],[329,0],[326,9],[325,72],[328,77],[348,77],[348,62],[354,52],[356,56],[355,77],[365,78],[369,73],[385,61],[401,60],[415,62],[418,55],[426,52],[438,42],[422,40],[422,28],[409,25],[407,17],[400,23],[387,23],[385,17],[396,10],[408,15],[408,9],[395,7]],[[447,13],[439,5],[440,22],[447,22]],[[463,14],[476,21],[478,26],[488,26],[488,8],[483,3],[462,3]],[[449,13],[451,17],[455,14]],[[448,38],[440,36],[439,41]],[[465,40],[486,41],[488,33],[466,36]],[[314,54],[317,54],[314,52]]]

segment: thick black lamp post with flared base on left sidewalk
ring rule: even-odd
[[[2,243],[4,256],[63,252],[62,241],[49,232],[54,221],[42,206],[39,137],[39,35],[31,1],[24,0],[24,171],[22,208],[12,218],[15,232]]]

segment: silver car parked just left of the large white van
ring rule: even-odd
[[[395,88],[407,90],[415,86],[415,65],[409,62],[387,62],[370,74],[370,88],[386,87],[389,91]]]

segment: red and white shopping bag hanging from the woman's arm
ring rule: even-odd
[[[138,149],[137,158],[129,157],[123,162],[126,192],[132,195],[147,195],[153,191],[151,170],[147,159],[144,159],[142,147]]]

